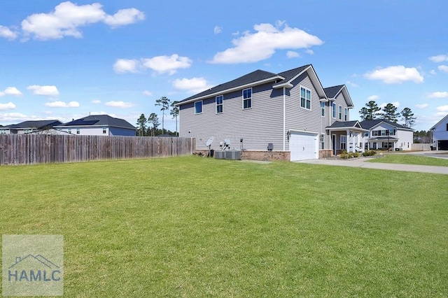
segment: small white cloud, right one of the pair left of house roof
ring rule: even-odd
[[[177,54],[141,60],[146,68],[157,71],[158,73],[169,73],[170,75],[176,73],[177,69],[188,69],[193,64],[190,58],[180,57]]]

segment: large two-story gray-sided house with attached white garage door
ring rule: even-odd
[[[197,150],[207,149],[213,137],[214,150],[230,142],[230,148],[289,151],[292,161],[317,159],[319,151],[362,142],[367,132],[349,119],[353,102],[346,86],[323,88],[311,64],[253,71],[177,105],[179,136],[196,138]]]

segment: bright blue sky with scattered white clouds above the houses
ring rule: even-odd
[[[0,1],[0,124],[108,113],[135,125],[262,69],[313,64],[355,105],[448,114],[448,1]],[[165,117],[165,127],[175,122]]]

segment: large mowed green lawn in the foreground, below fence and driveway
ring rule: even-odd
[[[447,297],[448,176],[179,157],[2,166],[66,297]]]

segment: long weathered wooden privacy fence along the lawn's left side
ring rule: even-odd
[[[188,155],[195,139],[151,136],[0,135],[0,166]]]

